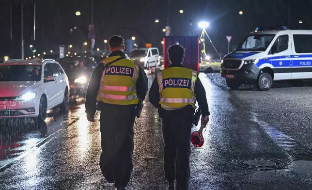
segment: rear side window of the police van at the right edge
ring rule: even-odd
[[[293,37],[296,53],[312,53],[312,35],[294,34]]]

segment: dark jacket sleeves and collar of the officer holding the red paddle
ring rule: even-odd
[[[170,67],[184,67],[182,64],[172,64]],[[206,98],[206,92],[203,87],[203,84],[199,78],[197,78],[195,82],[195,97],[198,102],[198,105],[200,109],[202,110],[202,114],[208,115],[209,108],[207,104],[207,98]],[[157,109],[161,109],[161,106],[159,105],[159,85],[157,82],[157,77],[155,76],[155,79],[152,83],[150,92],[149,92],[149,101],[153,104],[153,106]],[[187,106],[182,109],[193,109],[191,106]]]

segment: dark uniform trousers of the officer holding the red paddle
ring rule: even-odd
[[[195,110],[191,106],[160,109],[164,140],[164,170],[167,181],[176,180],[177,190],[188,190],[191,128]]]

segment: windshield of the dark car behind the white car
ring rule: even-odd
[[[94,64],[91,60],[87,59],[61,59],[59,63],[65,71],[75,70],[79,68],[93,69]]]

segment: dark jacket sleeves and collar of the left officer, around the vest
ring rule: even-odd
[[[112,56],[121,56],[123,58],[126,58],[125,53],[122,51],[113,51],[109,54],[109,57],[112,57]],[[96,96],[100,88],[100,82],[101,82],[103,70],[104,70],[104,64],[99,63],[94,68],[92,75],[90,77],[90,80],[89,80],[87,94],[86,94],[86,102],[85,102],[86,113],[88,116],[93,116],[96,112],[96,108],[95,108]],[[141,66],[139,67],[139,77],[136,83],[136,90],[137,90],[137,96],[139,97],[140,100],[143,101],[145,99],[145,96],[148,90],[148,79],[147,79],[144,69]],[[105,104],[105,103],[101,102],[101,104]],[[125,106],[131,106],[131,105],[125,105]]]

